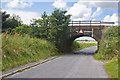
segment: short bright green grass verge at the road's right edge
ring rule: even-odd
[[[94,58],[100,61],[107,61],[108,63],[104,64],[106,72],[109,74],[110,78],[118,78],[118,59],[116,59],[116,57],[111,59],[103,54],[96,53]]]

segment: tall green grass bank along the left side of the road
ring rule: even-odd
[[[54,44],[44,39],[14,36],[7,33],[2,37],[2,70],[9,70],[30,62],[54,56],[57,49]]]

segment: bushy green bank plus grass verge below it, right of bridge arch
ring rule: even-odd
[[[94,55],[97,60],[112,60],[105,64],[106,71],[112,78],[118,77],[118,58],[119,58],[119,32],[118,26],[104,30],[104,35],[100,43],[98,52]],[[114,60],[114,58],[117,58]]]

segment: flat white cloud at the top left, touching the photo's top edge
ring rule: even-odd
[[[20,0],[13,0],[11,2],[8,2],[5,6],[7,8],[25,8],[25,7],[31,7],[32,2],[23,2]]]

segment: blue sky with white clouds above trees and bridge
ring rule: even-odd
[[[66,10],[71,20],[100,20],[118,22],[118,1],[81,1],[81,0],[3,0],[2,11],[19,15],[24,24],[33,18],[41,19],[44,11],[50,15],[55,8]]]

